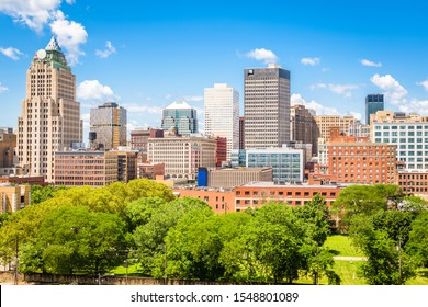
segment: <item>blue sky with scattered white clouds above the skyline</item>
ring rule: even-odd
[[[128,110],[128,128],[160,126],[161,109],[203,90],[236,88],[279,62],[291,71],[292,103],[317,114],[364,118],[364,98],[428,115],[428,4],[398,1],[0,0],[0,126],[16,127],[25,71],[57,36],[89,111],[105,101]],[[83,140],[87,140],[87,134]]]

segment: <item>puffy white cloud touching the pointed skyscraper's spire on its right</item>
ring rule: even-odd
[[[88,33],[85,26],[75,21],[66,20],[61,11],[57,11],[55,20],[50,23],[52,33],[57,36],[59,46],[67,50],[67,60],[69,65],[79,62],[79,57],[85,53],[80,50],[80,44],[85,44]]]

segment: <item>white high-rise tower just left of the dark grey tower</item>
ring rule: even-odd
[[[227,155],[239,148],[239,93],[225,83],[204,90],[205,134],[226,137]]]

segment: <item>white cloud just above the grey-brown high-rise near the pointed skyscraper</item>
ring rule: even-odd
[[[120,98],[113,93],[109,86],[103,86],[98,80],[85,80],[77,87],[77,96],[85,101],[106,102]]]

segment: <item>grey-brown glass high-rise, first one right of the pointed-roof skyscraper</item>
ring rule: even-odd
[[[102,149],[126,146],[126,109],[106,102],[91,110],[90,132],[97,134],[94,143]]]

